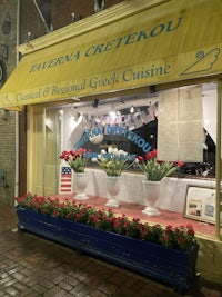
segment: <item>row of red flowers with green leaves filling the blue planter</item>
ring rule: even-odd
[[[42,212],[42,216],[51,215],[71,219],[80,224],[87,224],[101,230],[112,231],[123,236],[130,236],[141,240],[157,242],[169,248],[189,250],[195,244],[192,225],[161,227],[159,224],[150,226],[139,218],[129,219],[125,215],[115,217],[111,209],[97,209],[89,205],[75,201],[44,198],[29,195],[27,198],[17,197],[19,207]]]

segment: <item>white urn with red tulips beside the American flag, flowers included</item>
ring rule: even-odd
[[[74,187],[77,189],[74,198],[78,200],[85,200],[89,198],[84,192],[89,180],[89,172],[85,172],[85,166],[88,162],[85,155],[88,152],[90,151],[79,148],[77,150],[64,150],[59,157],[61,160],[67,161],[73,170]]]

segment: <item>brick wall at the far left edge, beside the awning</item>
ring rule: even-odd
[[[7,30],[4,30],[4,24]],[[0,60],[6,66],[7,78],[17,63],[17,1],[0,0]],[[8,49],[8,55],[6,51]],[[8,56],[8,57],[7,57]],[[3,81],[0,82],[0,88]],[[13,205],[16,181],[16,113],[0,110],[0,169],[6,172],[6,182],[0,185],[0,204]]]

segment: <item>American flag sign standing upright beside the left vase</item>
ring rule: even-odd
[[[72,169],[68,166],[60,167],[60,185],[59,194],[72,194],[73,182],[72,182]]]

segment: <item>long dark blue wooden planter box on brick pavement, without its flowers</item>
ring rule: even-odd
[[[182,251],[29,209],[16,210],[19,229],[167,281],[179,289],[188,289],[194,279],[198,246]]]

